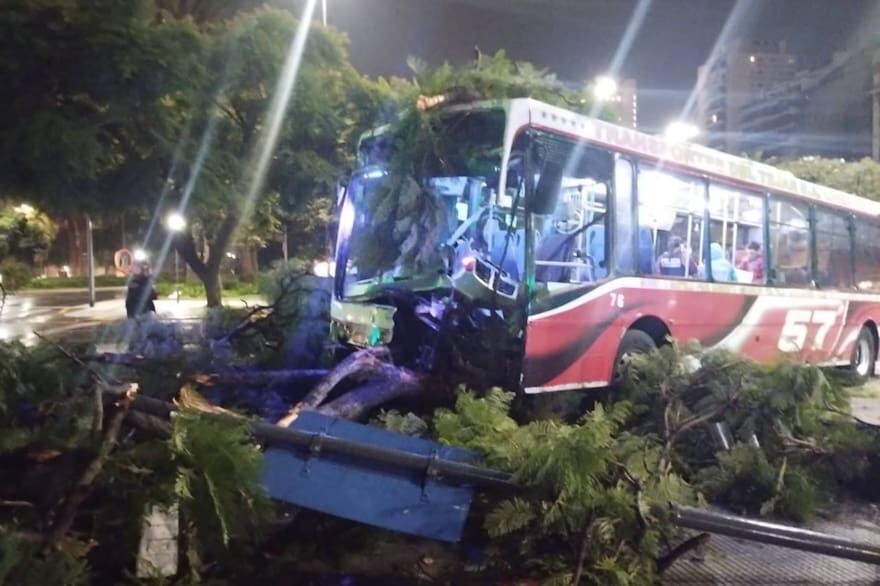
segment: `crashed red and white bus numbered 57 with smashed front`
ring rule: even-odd
[[[363,138],[341,200],[353,344],[530,393],[607,386],[668,337],[873,374],[880,203],[531,99],[421,128]]]

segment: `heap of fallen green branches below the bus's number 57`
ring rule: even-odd
[[[655,438],[667,470],[747,514],[809,519],[865,477],[880,447],[847,415],[844,390],[809,364],[759,365],[673,343],[629,360],[622,397],[637,405],[634,433]],[[730,430],[730,451],[712,424]]]

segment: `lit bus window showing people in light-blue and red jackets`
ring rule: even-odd
[[[712,280],[763,283],[764,200],[741,189],[709,185]]]

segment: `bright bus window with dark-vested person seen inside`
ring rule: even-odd
[[[706,237],[703,229],[705,185],[702,181],[665,170],[640,166],[639,254],[650,250],[651,271],[665,277],[695,278],[699,273],[698,251]],[[644,236],[650,248],[642,245]]]

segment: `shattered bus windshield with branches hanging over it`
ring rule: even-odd
[[[504,203],[496,196],[504,125],[503,110],[422,114],[362,142],[365,165],[340,213],[341,296],[394,284],[434,288],[445,279],[451,244],[484,228],[481,211]]]

